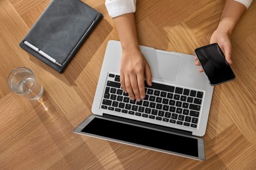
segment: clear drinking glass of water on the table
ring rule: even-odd
[[[43,86],[35,74],[26,67],[11,71],[7,83],[12,92],[30,100],[38,100],[43,95]]]

